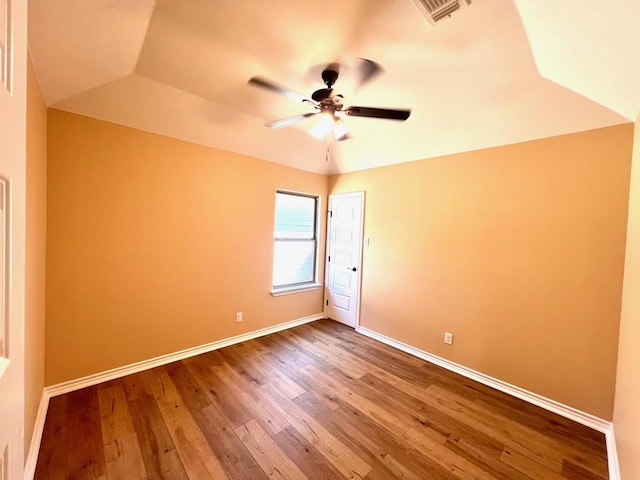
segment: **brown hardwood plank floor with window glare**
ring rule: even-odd
[[[321,320],[52,398],[35,478],[608,474],[603,434]]]

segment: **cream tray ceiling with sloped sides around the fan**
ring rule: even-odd
[[[320,173],[635,120],[639,45],[638,0],[473,0],[435,27],[413,0],[29,1],[50,107]],[[356,57],[385,73],[354,91]],[[348,117],[330,144],[264,126],[313,110],[250,77],[311,95],[336,60],[345,106],[411,117]]]

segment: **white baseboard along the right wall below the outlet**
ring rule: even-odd
[[[538,395],[537,393],[529,392],[528,390],[525,390],[523,388],[516,387],[515,385],[511,385],[507,382],[503,382],[502,380],[498,380],[497,378],[485,375],[484,373],[477,372],[470,368],[451,362],[445,358],[438,357],[431,353],[407,345],[406,343],[399,342],[398,340],[394,340],[378,332],[369,330],[368,328],[358,327],[356,331],[358,333],[366,335],[367,337],[371,337],[382,343],[395,347],[398,350],[402,350],[403,352],[406,352],[410,355],[426,360],[427,362],[446,368],[447,370],[462,375],[463,377],[470,378],[471,380],[475,380],[476,382],[482,383],[483,385],[487,385],[488,387],[495,388],[496,390],[500,390],[501,392],[508,393],[511,396],[529,402],[533,405],[537,405],[538,407],[549,410],[550,412],[557,413],[562,417],[568,418],[587,427],[593,428],[598,432],[608,434],[608,432],[613,428],[611,422],[603,420],[599,417],[586,412],[582,412],[573,407],[569,407],[568,405],[556,402],[555,400],[543,397],[542,395]]]

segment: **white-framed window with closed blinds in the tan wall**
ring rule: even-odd
[[[318,197],[276,192],[273,246],[273,292],[318,286]]]

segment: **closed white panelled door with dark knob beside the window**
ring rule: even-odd
[[[329,196],[325,315],[355,328],[360,315],[364,192]]]

